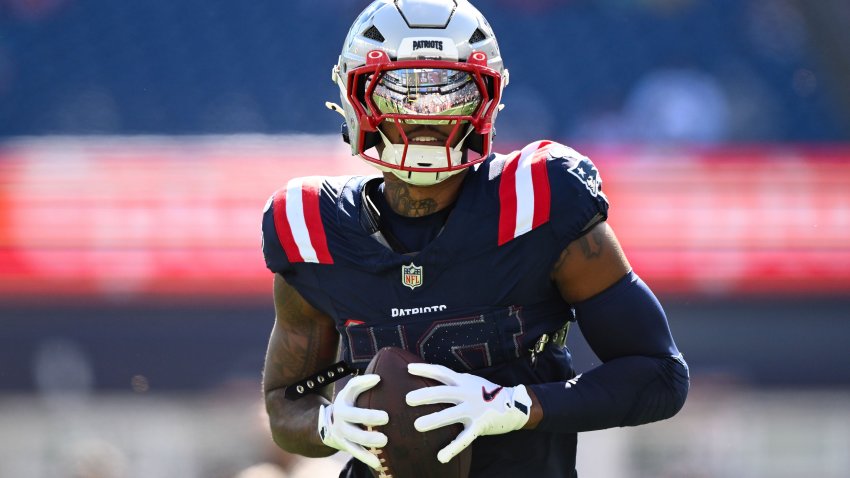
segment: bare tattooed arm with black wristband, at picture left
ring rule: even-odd
[[[339,335],[331,318],[308,304],[280,274],[275,274],[274,304],[275,324],[263,370],[272,437],[292,453],[332,455],[336,450],[323,445],[316,431],[319,405],[329,403],[330,397],[312,394],[287,400],[283,394],[287,385],[336,361]]]

